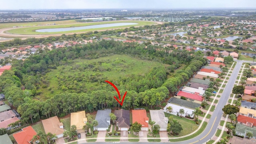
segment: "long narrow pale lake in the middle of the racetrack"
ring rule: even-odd
[[[135,25],[138,23],[133,22],[120,22],[120,23],[114,23],[114,24],[98,24],[98,25],[92,25],[92,26],[80,26],[80,27],[72,27],[72,28],[47,28],[47,29],[40,29],[36,30],[36,32],[67,32],[72,30],[86,30],[86,29],[92,29],[92,28],[108,28],[113,26],[128,26],[128,25]]]

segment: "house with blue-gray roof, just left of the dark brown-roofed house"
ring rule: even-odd
[[[107,130],[110,126],[110,109],[98,110],[95,120],[98,121],[98,126],[94,127],[94,130]]]

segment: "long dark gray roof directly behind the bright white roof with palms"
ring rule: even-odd
[[[198,103],[182,100],[180,98],[170,98],[168,102],[193,109],[198,108],[200,106],[200,104]]]

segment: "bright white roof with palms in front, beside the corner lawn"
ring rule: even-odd
[[[194,114],[193,114],[194,109],[186,108],[186,107],[184,107],[184,106],[179,106],[179,105],[171,104],[171,103],[166,104],[166,106],[164,107],[164,112],[169,113],[169,112],[166,110],[166,108],[169,107],[169,106],[172,107],[172,113],[170,113],[170,114],[177,115],[177,114],[179,114],[180,109],[183,109],[185,113],[182,114],[182,116],[184,116],[184,117],[185,117],[185,116],[194,117]]]

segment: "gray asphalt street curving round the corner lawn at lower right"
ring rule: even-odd
[[[222,114],[223,114],[222,108],[226,105],[226,103],[228,101],[228,98],[232,92],[232,88],[233,88],[236,78],[238,76],[238,72],[242,66],[242,63],[246,62],[246,61],[242,61],[242,60],[235,60],[235,61],[237,62],[236,66],[228,80],[228,83],[226,84],[226,87],[224,88],[224,90],[222,92],[222,96],[220,97],[218,104],[215,105],[216,108],[215,108],[214,112],[212,113],[212,116],[211,116],[206,128],[204,129],[204,131],[192,139],[185,140],[182,142],[171,142],[170,141],[168,143],[172,143],[172,144],[203,144],[203,143],[207,142],[208,140],[210,140],[210,138],[212,138],[214,136],[214,134],[217,130],[218,124],[220,123]],[[113,144],[113,143],[120,143],[120,142],[97,142],[97,144]],[[132,143],[138,143],[138,142],[129,142],[129,143],[132,144]],[[157,142],[157,143],[164,144],[164,142]],[[140,144],[148,144],[148,142],[140,142]]]

